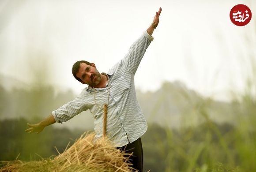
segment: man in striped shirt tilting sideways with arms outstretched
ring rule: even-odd
[[[140,137],[147,131],[147,122],[138,104],[134,86],[134,75],[147,47],[153,41],[154,29],[158,26],[160,7],[147,31],[131,46],[125,57],[115,64],[107,74],[100,74],[96,65],[78,61],[72,67],[75,79],[88,87],[73,101],[52,112],[45,120],[29,124],[26,132],[41,132],[53,123],[70,120],[80,112],[90,109],[94,116],[95,139],[102,137],[103,105],[108,107],[106,136],[113,146],[133,152],[133,168],[143,172],[143,150]]]

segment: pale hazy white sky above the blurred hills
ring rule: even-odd
[[[230,10],[252,11],[246,26]],[[53,85],[79,93],[75,61],[107,72],[147,30],[162,7],[154,41],[136,72],[136,88],[158,90],[181,81],[217,100],[230,100],[255,79],[255,0],[0,0],[0,74],[29,85]],[[256,79],[255,79],[256,82]]]

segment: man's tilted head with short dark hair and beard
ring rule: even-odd
[[[72,67],[72,74],[79,82],[96,86],[101,81],[101,74],[96,69],[95,64],[80,60],[75,62]]]

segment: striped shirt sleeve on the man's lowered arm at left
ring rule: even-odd
[[[83,100],[83,91],[73,101],[61,106],[57,110],[52,112],[52,115],[57,123],[63,123],[79,113],[86,111],[88,108],[85,106]]]

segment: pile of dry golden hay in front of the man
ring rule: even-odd
[[[93,142],[94,135],[81,135],[70,148],[53,159],[1,161],[0,172],[132,172],[128,163],[131,154],[117,150],[106,138]]]

